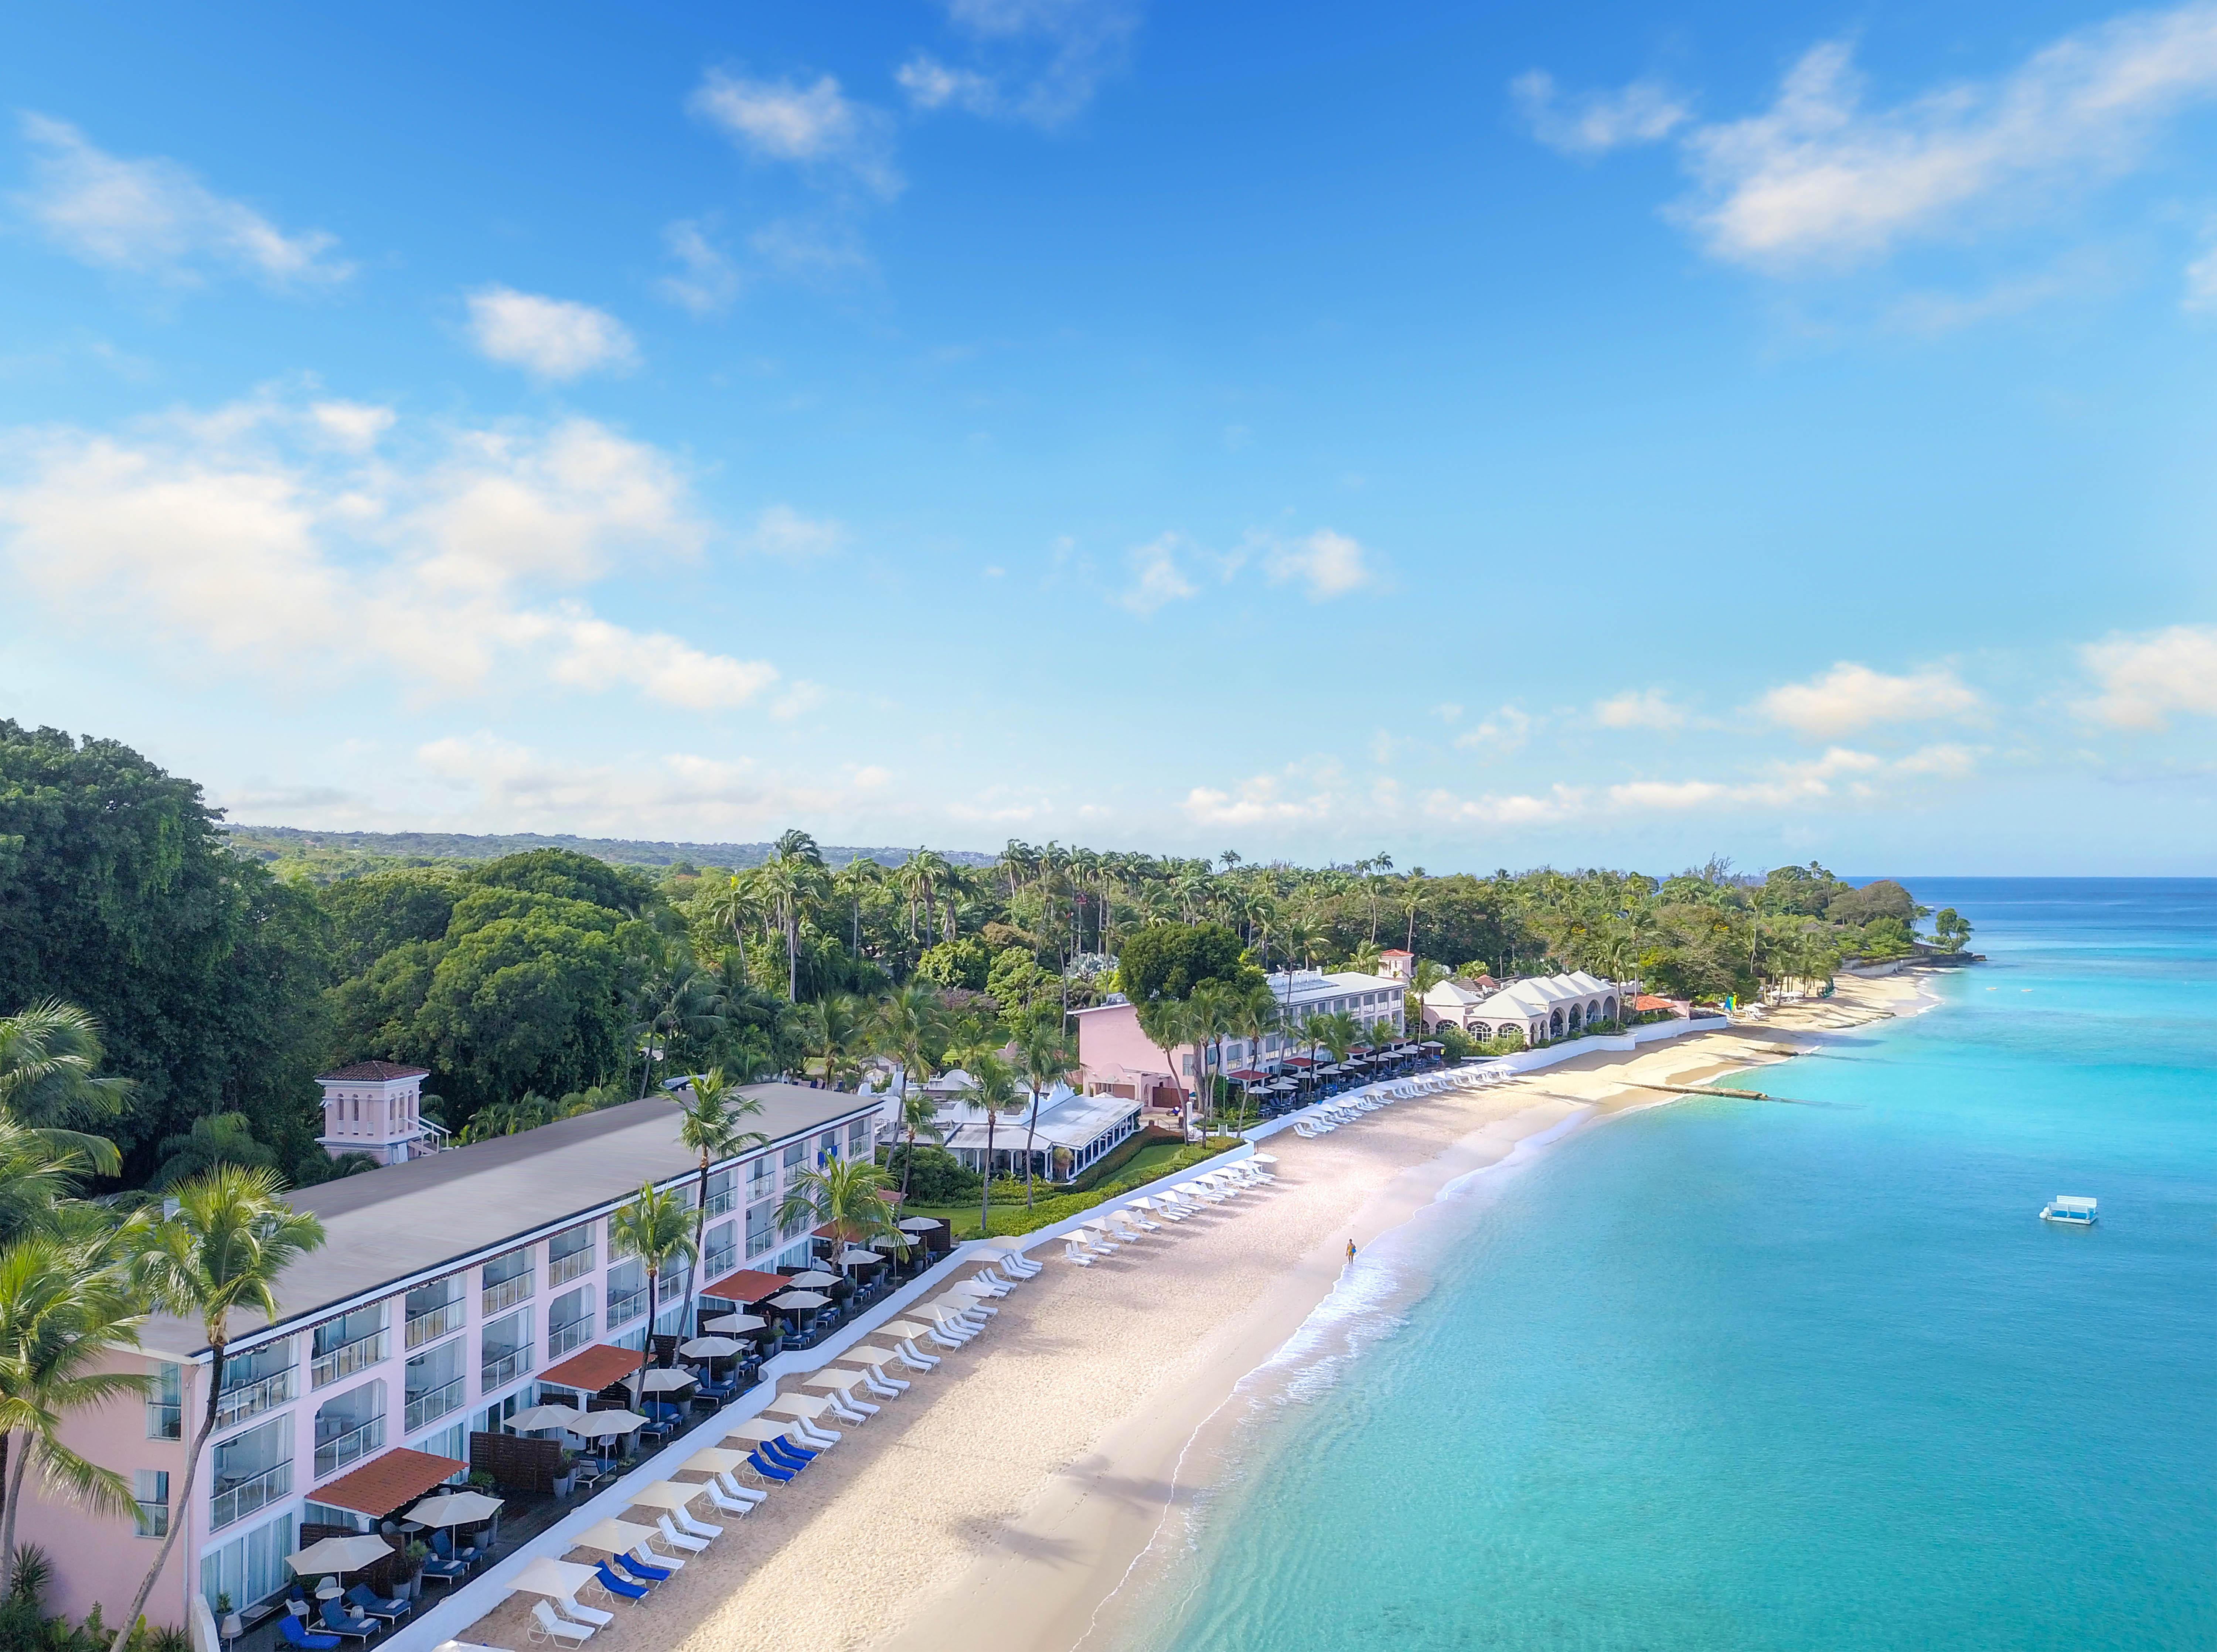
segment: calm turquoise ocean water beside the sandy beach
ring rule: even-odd
[[[1377,1246],[1120,1639],[2217,1648],[2217,880],[1911,887],[1993,962]]]

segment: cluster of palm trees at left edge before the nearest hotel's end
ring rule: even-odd
[[[144,1395],[151,1379],[118,1370],[118,1355],[140,1346],[149,1315],[188,1319],[213,1350],[211,1379],[173,1488],[180,1515],[118,1619],[122,1652],[186,1526],[231,1319],[277,1317],[277,1279],[324,1244],[324,1228],[284,1202],[284,1182],[266,1166],[215,1164],[175,1182],[166,1200],[80,1200],[89,1173],[120,1169],[115,1144],[84,1129],[129,1100],[129,1084],[100,1075],[100,1024],[73,1005],[0,1018],[0,1599],[13,1583],[16,1523],[33,1479],[49,1497],[137,1512],[118,1470],[69,1448],[64,1421]]]

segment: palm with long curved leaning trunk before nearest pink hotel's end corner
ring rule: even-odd
[[[200,1472],[208,1435],[215,1432],[233,1311],[275,1319],[277,1279],[324,1244],[324,1224],[286,1204],[282,1191],[284,1180],[275,1171],[219,1164],[171,1191],[177,1209],[146,1231],[144,1246],[133,1260],[146,1302],[180,1319],[200,1319],[200,1330],[208,1339],[208,1404],[200,1417],[200,1432],[184,1452],[184,1483],[171,1499],[180,1517],[171,1519],[168,1534],[131,1599],[131,1610],[118,1619],[122,1628],[115,1630],[111,1652],[124,1652],[124,1641],[168,1563],[168,1550],[188,1523],[182,1512],[193,1506],[193,1477]]]

